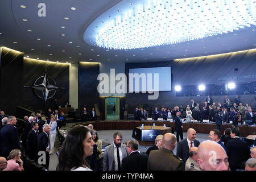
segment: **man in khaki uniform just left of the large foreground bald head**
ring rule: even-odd
[[[201,171],[197,164],[197,147],[191,147],[189,149],[189,158],[185,164],[185,171]]]

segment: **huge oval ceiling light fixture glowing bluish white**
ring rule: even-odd
[[[256,1],[141,0],[129,3],[130,0],[121,1],[98,16],[86,28],[84,41],[107,49],[159,47],[256,25]]]

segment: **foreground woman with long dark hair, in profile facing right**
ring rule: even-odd
[[[68,132],[60,149],[57,171],[92,171],[85,158],[92,155],[94,142],[85,126],[76,126]]]

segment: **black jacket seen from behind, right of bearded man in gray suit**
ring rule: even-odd
[[[131,153],[123,158],[121,171],[147,171],[147,157],[139,152]]]

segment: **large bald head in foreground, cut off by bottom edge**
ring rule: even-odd
[[[197,150],[197,163],[202,171],[228,171],[228,155],[220,144],[214,141],[202,142]]]

